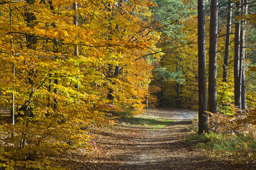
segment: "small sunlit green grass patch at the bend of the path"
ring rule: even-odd
[[[133,125],[143,125],[150,127],[152,129],[162,129],[165,126],[169,125],[174,120],[167,120],[164,118],[156,117],[156,116],[130,116],[123,118],[123,121],[129,122]]]

